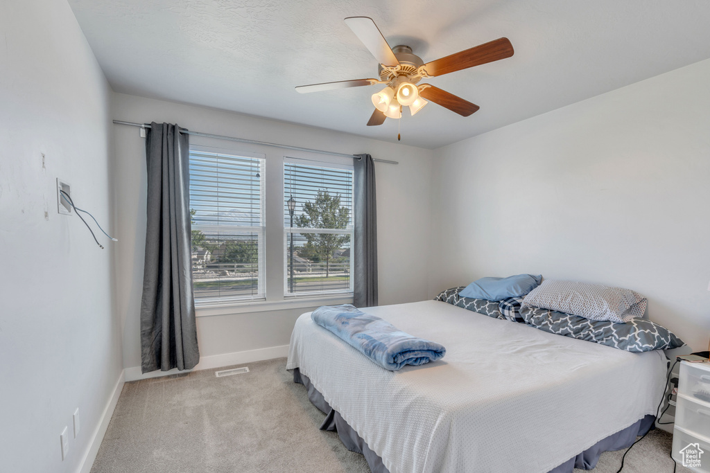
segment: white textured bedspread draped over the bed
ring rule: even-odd
[[[629,353],[439,301],[368,308],[447,355],[390,372],[296,321],[300,368],[391,473],[539,472],[655,414],[662,352]]]

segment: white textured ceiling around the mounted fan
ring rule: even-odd
[[[69,3],[115,91],[388,141],[396,141],[397,121],[366,126],[370,96],[381,87],[315,94],[293,89],[376,77],[376,60],[343,18],[370,16],[391,46],[410,45],[425,62],[509,38],[513,57],[426,79],[481,109],[467,118],[436,104],[414,117],[405,112],[402,143],[423,148],[710,57],[707,0]]]

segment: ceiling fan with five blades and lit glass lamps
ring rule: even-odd
[[[400,118],[402,107],[409,106],[414,115],[428,102],[469,116],[476,112],[479,106],[449,94],[449,92],[434,87],[431,84],[415,85],[426,77],[437,77],[449,72],[460,71],[469,67],[486,64],[513,55],[513,45],[508,38],[498,38],[490,43],[474,46],[461,52],[442,57],[426,64],[405,45],[390,48],[377,25],[367,16],[351,16],[345,18],[347,26],[364,43],[379,65],[379,79],[354,79],[322,84],[302,85],[296,87],[301,94],[332,89],[346,89],[373,84],[387,84],[387,87],[372,96],[375,111],[367,122],[368,126],[384,123],[386,118]]]

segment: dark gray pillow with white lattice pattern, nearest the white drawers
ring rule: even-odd
[[[523,307],[520,316],[528,325],[545,332],[601,343],[627,352],[670,350],[685,345],[670,330],[645,318],[632,318],[626,323],[593,321],[538,307]]]

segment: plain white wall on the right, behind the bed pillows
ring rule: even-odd
[[[710,60],[435,150],[430,295],[530,272],[710,337]]]

